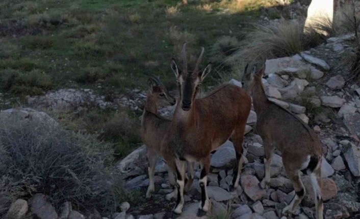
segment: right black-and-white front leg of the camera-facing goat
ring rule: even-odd
[[[199,179],[199,186],[201,189],[201,201],[199,204],[199,211],[197,213],[198,216],[202,216],[203,214],[206,214],[206,212],[208,212],[210,209],[210,200],[206,189],[208,183],[208,173],[210,170],[210,155],[207,158],[202,159],[200,162],[201,162],[201,173]]]

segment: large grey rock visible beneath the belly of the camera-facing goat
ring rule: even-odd
[[[211,166],[223,168],[232,166],[236,161],[235,149],[233,143],[226,141],[221,145],[211,157]]]

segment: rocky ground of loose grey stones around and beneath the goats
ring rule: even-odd
[[[323,143],[322,196],[325,201],[325,218],[331,219],[360,218],[360,87],[346,81],[349,73],[346,65],[342,64],[349,53],[353,52],[351,40],[353,35],[330,38],[326,43],[295,56],[267,60],[263,79],[269,99],[308,123]],[[241,86],[234,79],[230,83]],[[92,90],[62,89],[48,92],[42,97],[29,97],[28,102],[30,106],[55,108],[87,107],[91,103],[99,107],[116,109],[126,106],[140,110],[139,106],[143,104],[145,97],[144,92],[136,90],[132,97],[106,101],[105,97],[96,96]],[[161,113],[170,115],[171,108],[165,108]],[[295,193],[285,174],[279,151],[275,152],[272,162],[269,188],[263,190],[259,187],[259,181],[264,177],[264,148],[261,137],[253,131],[255,123],[256,113],[251,111],[244,141],[245,165],[241,174],[241,186],[236,191],[228,191],[236,160],[232,142],[225,142],[213,152],[207,187],[212,210],[201,218],[227,218],[220,217],[226,212],[232,213],[228,218],[280,218],[282,208],[292,200]],[[140,190],[143,199],[148,185],[147,165],[145,146],[139,147],[116,165],[116,171],[121,172],[126,180],[126,190]],[[198,218],[199,168],[195,171],[194,183],[185,196],[184,212],[178,218]],[[166,164],[159,159],[156,166],[155,196],[137,206],[122,203],[121,212],[102,216],[113,219],[170,218],[175,202],[165,200],[165,194],[171,192],[167,178]],[[314,218],[311,185],[307,176],[302,176],[302,180],[306,196],[301,213],[294,215],[294,218]],[[60,218],[85,218],[80,212],[71,210],[71,205],[66,203],[63,211],[57,214],[41,194],[35,195],[28,202],[17,200],[9,210],[9,215],[28,211],[28,204],[40,218],[57,218],[59,215]],[[47,206],[45,216],[42,214],[42,206]],[[53,216],[49,216],[52,214]],[[87,218],[101,216],[94,212]]]

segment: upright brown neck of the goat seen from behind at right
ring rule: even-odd
[[[252,101],[256,113],[266,110],[269,104],[261,78],[255,78],[252,86]]]

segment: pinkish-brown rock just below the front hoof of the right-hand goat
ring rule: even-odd
[[[253,175],[245,175],[241,177],[241,186],[245,194],[253,201],[266,198],[266,191],[259,186],[259,180]]]

